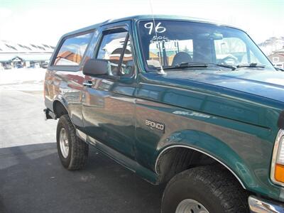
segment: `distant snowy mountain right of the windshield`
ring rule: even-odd
[[[263,53],[271,55],[273,51],[284,47],[284,36],[268,38],[262,43],[259,43],[258,46],[263,50]]]

